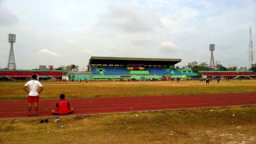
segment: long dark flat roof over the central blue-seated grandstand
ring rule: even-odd
[[[145,64],[145,65],[166,65],[177,64],[181,59],[175,58],[126,58],[126,57],[101,57],[92,56],[90,64]]]

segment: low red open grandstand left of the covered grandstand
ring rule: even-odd
[[[38,74],[39,80],[59,80],[62,70],[0,70],[0,80],[30,80],[32,74]]]

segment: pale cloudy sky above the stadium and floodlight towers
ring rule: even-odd
[[[249,66],[256,0],[0,0],[0,68],[16,34],[16,69],[75,64],[91,56],[179,58]],[[254,62],[256,45],[253,43]]]

